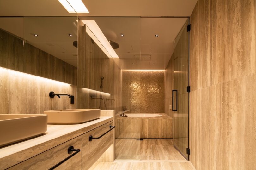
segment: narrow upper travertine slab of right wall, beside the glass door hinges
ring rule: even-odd
[[[211,83],[211,15],[210,1],[200,0],[190,18],[190,86],[191,91]]]

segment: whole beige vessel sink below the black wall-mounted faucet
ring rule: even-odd
[[[44,111],[48,115],[48,124],[79,124],[98,119],[100,109],[66,109]]]

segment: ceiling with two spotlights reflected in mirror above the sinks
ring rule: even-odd
[[[76,20],[77,17],[0,18],[0,28],[77,67],[77,48],[73,46],[77,41]]]

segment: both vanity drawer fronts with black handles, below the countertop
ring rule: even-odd
[[[55,169],[87,170],[99,159],[109,146],[113,144],[114,130],[112,126],[113,121],[103,124],[74,139],[59,144],[58,146],[46,150],[32,158],[9,167],[8,170],[46,170],[52,168],[59,162],[63,163]],[[98,138],[101,135],[102,137],[99,139],[89,140],[90,136]],[[75,153],[75,151],[70,154],[68,153],[68,148],[70,146],[73,146],[74,149],[80,149],[80,151],[66,161],[63,161],[65,158]]]

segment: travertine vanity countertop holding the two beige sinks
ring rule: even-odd
[[[0,148],[0,169],[16,165],[110,121],[113,117],[109,116],[82,124],[48,125],[43,135]]]

